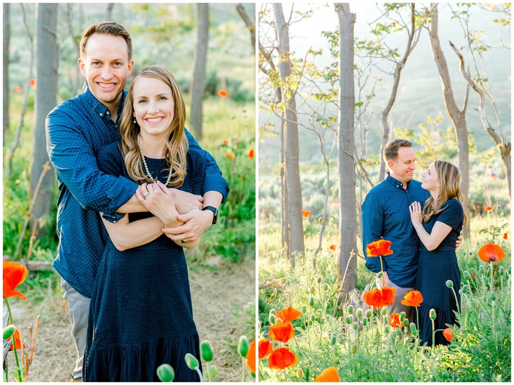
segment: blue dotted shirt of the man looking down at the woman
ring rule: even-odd
[[[409,205],[417,200],[423,204],[430,192],[421,188],[417,180],[403,184],[388,175],[373,187],[362,203],[362,248],[366,267],[380,271],[380,258],[366,255],[366,246],[384,239],[391,241],[393,254],[382,257],[383,270],[389,279],[399,287],[414,287],[419,256],[419,238],[412,226]]]

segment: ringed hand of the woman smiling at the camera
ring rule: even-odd
[[[182,224],[177,219],[175,201],[172,194],[162,183],[143,183],[137,188],[136,196],[141,204],[152,214],[158,217],[164,226],[173,227]]]

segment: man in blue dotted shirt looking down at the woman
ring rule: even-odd
[[[373,187],[362,203],[362,248],[366,268],[380,272],[380,259],[366,254],[366,245],[384,239],[391,241],[393,254],[383,256],[384,286],[396,288],[390,310],[405,311],[412,320],[412,307],[401,304],[405,294],[414,290],[419,238],[412,226],[409,205],[413,201],[422,204],[430,197],[421,182],[414,180],[416,156],[412,143],[406,139],[394,139],[387,143],[383,157],[390,172],[386,179]],[[456,247],[461,243],[459,236]],[[377,280],[381,287],[382,280]]]

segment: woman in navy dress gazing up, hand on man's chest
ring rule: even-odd
[[[421,251],[414,288],[421,292],[423,302],[419,308],[419,337],[422,343],[432,345],[430,309],[436,313],[435,344],[447,345],[443,330],[456,323],[455,313],[461,306],[458,290],[461,272],[458,268],[455,242],[467,224],[467,215],[460,202],[461,172],[454,164],[436,160],[421,174],[421,187],[430,192],[423,210],[419,202],[409,207],[411,221],[421,241]],[[453,289],[446,281],[453,282]]]

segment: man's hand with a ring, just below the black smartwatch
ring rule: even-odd
[[[201,234],[212,225],[213,216],[214,213],[210,210],[191,210],[186,214],[177,216],[179,221],[185,222],[183,225],[164,228],[162,232],[175,242],[198,242]]]

